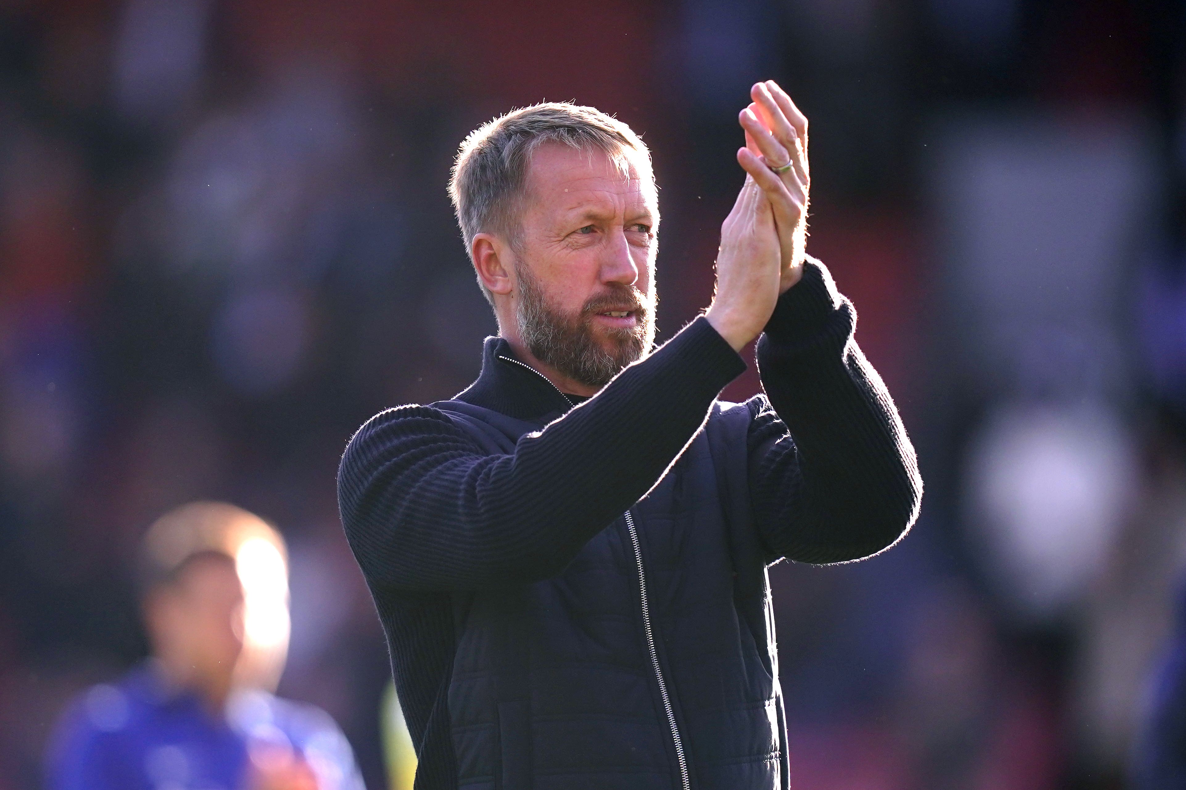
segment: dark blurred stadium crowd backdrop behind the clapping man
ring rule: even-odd
[[[0,790],[145,654],[135,552],[197,497],[283,532],[280,692],[384,788],[334,474],[495,330],[458,143],[542,99],[642,133],[663,339],[765,77],[927,486],[894,551],[771,570],[795,786],[1129,786],[1186,570],[1184,47],[1168,0],[0,0]]]

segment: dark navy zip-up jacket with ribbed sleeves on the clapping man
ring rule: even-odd
[[[573,407],[486,340],[452,400],[384,411],[338,493],[417,790],[789,786],[766,567],[908,529],[913,448],[809,261],[758,343],[704,319]]]

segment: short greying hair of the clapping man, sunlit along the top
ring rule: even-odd
[[[604,152],[623,173],[631,165],[639,166],[644,171],[639,175],[653,188],[651,152],[621,121],[595,108],[568,102],[511,110],[471,131],[453,163],[448,193],[467,252],[473,237],[483,232],[498,233],[517,248],[528,166],[531,154],[546,142]],[[493,304],[493,296],[480,277],[478,284],[486,301]]]

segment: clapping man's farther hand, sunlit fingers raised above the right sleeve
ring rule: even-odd
[[[779,293],[785,293],[803,276],[806,246],[808,192],[811,186],[808,167],[808,120],[795,102],[773,79],[750,89],[753,103],[741,114],[746,147],[776,172],[790,165],[778,176],[786,190],[788,201],[772,201],[774,224],[782,246]]]

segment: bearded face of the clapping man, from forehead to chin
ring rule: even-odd
[[[527,186],[519,335],[540,361],[602,386],[655,341],[655,190],[633,166],[560,143],[535,150]]]

